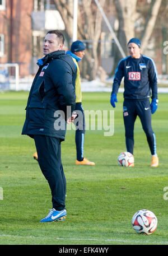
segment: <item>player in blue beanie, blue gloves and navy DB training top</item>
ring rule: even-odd
[[[123,118],[127,151],[133,154],[134,123],[139,116],[151,151],[151,166],[157,167],[156,137],[151,125],[151,114],[156,112],[158,103],[156,66],[151,58],[141,54],[138,38],[129,40],[128,51],[130,56],[120,60],[116,68],[110,103],[115,108],[116,95],[124,77]]]

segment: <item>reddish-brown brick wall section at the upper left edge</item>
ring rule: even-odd
[[[0,62],[19,63],[22,75],[31,63],[32,8],[33,1],[0,0]]]

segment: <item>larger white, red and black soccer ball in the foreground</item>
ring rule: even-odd
[[[132,217],[132,226],[137,233],[151,235],[157,227],[157,218],[149,210],[139,210]]]

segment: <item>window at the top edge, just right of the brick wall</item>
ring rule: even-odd
[[[45,10],[55,10],[55,3],[53,0],[34,0],[34,11],[44,12]]]

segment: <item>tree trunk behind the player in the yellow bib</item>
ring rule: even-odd
[[[73,0],[54,0],[54,2],[66,25],[66,35],[68,46],[70,47],[73,35]],[[105,0],[99,0],[99,2],[104,7]],[[97,9],[95,1],[81,0],[78,4],[77,39],[87,42],[85,54],[87,64],[85,67],[89,80],[95,79],[97,68],[99,67],[97,48],[101,34],[101,22],[102,16]]]

